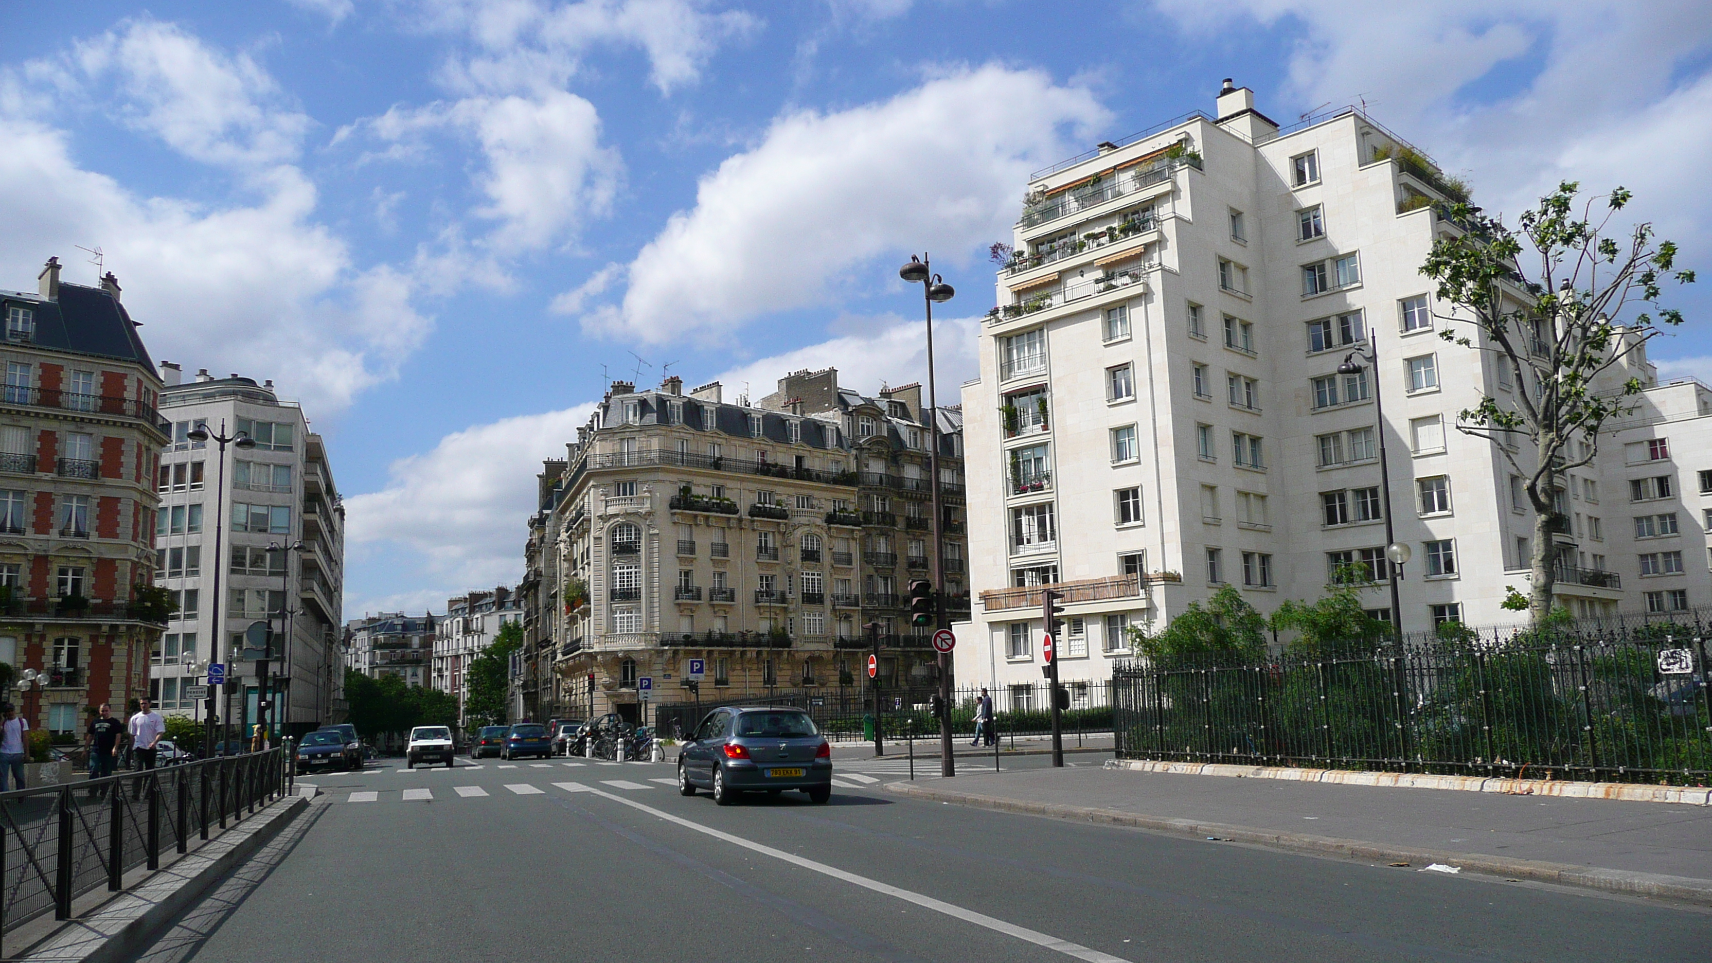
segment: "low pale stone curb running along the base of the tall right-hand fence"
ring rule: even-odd
[[[1231,766],[1226,763],[1162,763],[1154,759],[1111,759],[1108,769],[1135,773],[1185,773],[1192,776],[1236,776],[1289,780],[1342,787],[1385,787],[1418,790],[1496,792],[1505,795],[1549,795],[1560,799],[1611,799],[1620,802],[1671,802],[1712,805],[1707,787],[1649,787],[1640,783],[1573,783],[1566,780],[1510,780],[1498,776],[1431,776],[1424,773],[1359,773],[1351,769],[1291,769],[1286,766]]]

